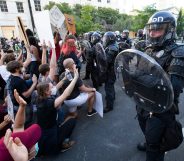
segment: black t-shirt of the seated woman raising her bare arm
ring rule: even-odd
[[[37,102],[37,122],[42,129],[56,126],[57,110],[54,107],[55,98],[49,97]]]

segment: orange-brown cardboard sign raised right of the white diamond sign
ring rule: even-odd
[[[70,33],[75,34],[76,28],[75,28],[75,21],[74,17],[72,15],[64,14],[65,15],[65,22],[67,29]]]

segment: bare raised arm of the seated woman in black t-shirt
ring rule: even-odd
[[[73,91],[73,88],[75,87],[75,83],[77,82],[77,79],[79,77],[79,73],[78,71],[75,69],[74,70],[74,79],[71,81],[71,83],[69,84],[69,86],[65,89],[65,91],[63,92],[63,94],[61,96],[59,96],[58,98],[56,98],[55,102],[54,102],[54,107],[58,108],[60,104],[62,104],[64,102],[64,100],[70,96],[70,94]]]

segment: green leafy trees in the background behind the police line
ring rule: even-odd
[[[157,11],[153,4],[145,7],[142,11],[137,10],[138,14],[131,16],[120,14],[119,11],[111,8],[99,7],[97,9],[90,5],[82,6],[80,4],[71,7],[68,3],[55,2],[49,2],[44,9],[50,10],[54,5],[56,5],[62,13],[74,15],[78,34],[95,30],[123,31],[124,29],[129,29],[136,32],[138,29],[144,28],[151,15]],[[182,19],[182,21],[180,20],[179,22],[183,25],[182,22],[184,22],[184,20]],[[179,29],[178,31],[181,30],[183,29]]]

